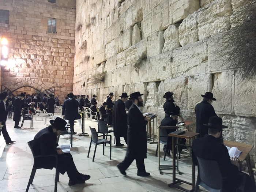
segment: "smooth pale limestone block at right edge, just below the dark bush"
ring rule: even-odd
[[[242,80],[235,78],[234,112],[240,116],[256,116],[256,78]]]

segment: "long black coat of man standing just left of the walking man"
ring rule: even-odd
[[[125,105],[118,99],[114,105],[114,135],[118,137],[127,136],[127,114]]]

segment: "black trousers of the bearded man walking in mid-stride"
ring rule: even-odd
[[[136,160],[136,166],[137,166],[138,172],[146,172],[144,158],[141,158],[141,157],[134,158],[134,157],[131,157],[131,155],[128,155],[127,157],[124,158],[124,161],[122,161],[118,165],[119,169],[124,171],[127,170],[128,167],[132,164],[134,159]]]

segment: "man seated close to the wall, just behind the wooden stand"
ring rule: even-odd
[[[170,112],[165,112],[165,113],[168,114],[168,116],[165,116],[165,118],[163,118],[160,126],[176,127],[178,115],[180,114],[180,108],[178,106],[176,106]],[[166,131],[166,135],[168,135],[169,133],[176,131],[176,129],[165,129],[165,131]],[[167,146],[168,150],[166,151],[166,154],[170,155],[170,151],[173,150],[172,137],[168,137],[167,139],[168,139],[169,145]],[[186,139],[179,138],[179,143],[185,145]],[[179,146],[179,151],[181,152],[182,149],[184,149],[184,148],[186,148],[186,147]],[[163,151],[165,151],[165,149],[166,149],[166,145],[163,146]],[[176,150],[176,148],[175,148],[175,150]]]

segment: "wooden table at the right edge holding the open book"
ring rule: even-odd
[[[250,159],[250,151],[252,150],[253,146],[252,145],[248,145],[248,144],[244,144],[244,143],[238,143],[238,142],[233,142],[233,141],[229,141],[229,140],[224,140],[224,145],[228,146],[228,147],[237,147],[238,150],[242,151],[241,155],[238,157],[238,159],[240,160],[240,171],[241,171],[241,164],[242,162],[245,160],[248,166],[248,171],[249,171],[249,175],[253,181],[253,183],[255,184],[255,179],[254,179],[254,175],[253,175],[253,170],[252,170],[252,165],[251,165],[251,159]]]

